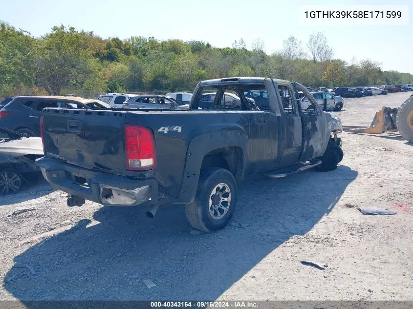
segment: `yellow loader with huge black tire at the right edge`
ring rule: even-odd
[[[399,108],[383,106],[370,126],[343,125],[343,130],[350,133],[372,133],[399,131],[400,135],[413,143],[413,95],[410,96]]]

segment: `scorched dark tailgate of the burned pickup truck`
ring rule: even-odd
[[[125,171],[125,114],[119,110],[43,109],[44,153],[114,174]]]

